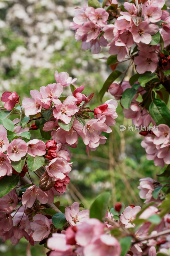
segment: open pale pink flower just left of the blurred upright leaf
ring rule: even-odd
[[[89,210],[79,210],[79,203],[73,203],[70,207],[65,208],[65,218],[68,220],[69,224],[72,226],[79,225],[82,222],[89,219]]]

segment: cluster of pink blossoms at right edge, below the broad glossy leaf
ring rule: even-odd
[[[158,131],[147,134],[141,142],[145,148],[147,159],[153,160],[156,166],[164,167],[170,164],[170,128],[166,124],[159,124]]]

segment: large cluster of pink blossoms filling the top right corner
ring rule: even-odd
[[[108,7],[106,11],[104,8],[94,9],[84,5],[83,8],[76,9],[70,28],[76,30],[75,38],[77,41],[82,41],[82,50],[91,48],[92,53],[95,54],[100,52],[100,46],[109,46],[109,54],[117,54],[119,62],[131,55],[130,49],[136,44],[138,56],[135,55],[133,58],[135,57],[137,72],[139,74],[145,71],[154,72],[158,64],[160,45],[150,45],[152,35],[159,31],[164,47],[170,44],[168,36],[170,14],[162,10],[164,4],[164,0],[149,0],[144,4],[137,2],[136,5],[125,2],[123,5],[126,11],[120,12],[120,16],[110,12]],[[111,24],[110,20],[114,21],[115,18],[114,24]],[[158,22],[160,27],[153,24]]]

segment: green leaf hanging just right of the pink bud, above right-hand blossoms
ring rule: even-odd
[[[139,88],[140,84],[134,84],[137,85],[136,87],[133,86],[132,88],[128,88],[126,89],[123,94],[122,94],[122,98],[121,98],[121,104],[124,108],[129,108],[130,107],[130,103],[133,100],[134,96],[137,93],[137,89]],[[137,89],[135,89],[135,88]]]

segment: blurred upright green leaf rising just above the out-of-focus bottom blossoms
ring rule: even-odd
[[[96,218],[104,221],[110,193],[106,192],[98,196],[90,207],[90,218]]]

